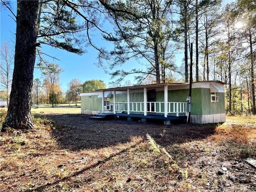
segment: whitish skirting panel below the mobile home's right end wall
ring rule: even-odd
[[[206,124],[206,123],[224,123],[226,122],[226,114],[211,114],[211,115],[191,115],[191,123]]]

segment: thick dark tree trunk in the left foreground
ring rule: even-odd
[[[38,1],[17,2],[17,28],[12,90],[3,127],[30,129],[31,92],[36,60]]]

